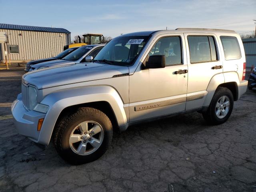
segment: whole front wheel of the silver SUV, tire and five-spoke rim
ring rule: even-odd
[[[113,136],[106,114],[95,108],[78,108],[58,123],[54,146],[70,164],[84,164],[100,158]]]

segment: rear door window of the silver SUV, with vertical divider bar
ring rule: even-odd
[[[217,60],[216,44],[212,36],[188,36],[190,63]]]

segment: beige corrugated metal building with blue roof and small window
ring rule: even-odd
[[[28,62],[56,56],[70,44],[70,32],[63,28],[0,24],[6,32],[7,43],[0,42],[0,63]]]

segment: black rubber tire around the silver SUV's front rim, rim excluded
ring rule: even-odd
[[[84,121],[94,121],[100,124],[104,131],[104,137],[101,145],[95,152],[88,155],[79,155],[70,148],[69,138],[74,127]],[[54,132],[54,146],[64,160],[70,164],[78,165],[100,158],[108,149],[112,137],[112,124],[108,116],[98,109],[82,107],[72,114],[62,117],[58,122]]]

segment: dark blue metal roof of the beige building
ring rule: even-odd
[[[68,30],[63,28],[12,25],[12,24],[2,24],[2,23],[0,23],[0,29],[39,31],[39,32],[51,32],[51,33],[70,33]]]

